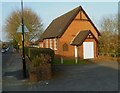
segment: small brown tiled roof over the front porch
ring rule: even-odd
[[[80,31],[72,40],[71,45],[80,46],[89,35],[90,30]]]

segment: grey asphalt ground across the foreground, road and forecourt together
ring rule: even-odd
[[[7,59],[7,58],[8,59]],[[53,78],[37,83],[22,77],[22,60],[17,52],[3,55],[3,91],[117,91],[118,63],[97,62],[54,65]]]

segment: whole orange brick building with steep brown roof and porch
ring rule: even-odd
[[[54,19],[39,39],[41,48],[51,48],[56,55],[82,59],[96,58],[100,32],[79,6]]]

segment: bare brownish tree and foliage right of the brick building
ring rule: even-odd
[[[101,23],[99,52],[108,56],[118,55],[118,16],[105,17]]]

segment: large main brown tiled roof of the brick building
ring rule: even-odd
[[[65,32],[65,30],[68,28],[68,26],[71,24],[71,22],[74,20],[78,12],[82,10],[84,13],[85,11],[81,6],[67,12],[66,14],[54,19],[50,25],[47,27],[47,29],[44,31],[41,40],[47,39],[47,38],[55,38],[55,37],[61,37],[62,34]],[[87,16],[87,14],[85,13]],[[87,18],[90,20],[90,18],[87,16]],[[98,35],[100,35],[99,31],[95,27],[95,25],[90,20],[91,24],[94,26],[96,31],[98,32]]]

